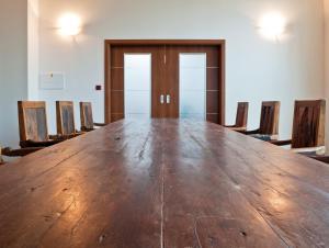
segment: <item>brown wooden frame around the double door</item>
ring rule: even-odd
[[[105,92],[104,92],[104,110],[105,110],[105,123],[111,123],[111,50],[112,46],[118,45],[185,45],[185,46],[218,46],[219,48],[219,66],[220,74],[218,80],[219,89],[219,123],[225,124],[225,72],[226,72],[226,41],[225,40],[105,40],[104,42],[104,80],[105,80]]]

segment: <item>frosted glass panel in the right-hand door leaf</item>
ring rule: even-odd
[[[205,120],[206,54],[180,54],[180,117]]]

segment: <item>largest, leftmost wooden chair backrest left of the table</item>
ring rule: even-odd
[[[45,102],[19,101],[21,142],[49,139]]]

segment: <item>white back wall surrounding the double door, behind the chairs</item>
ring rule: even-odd
[[[76,41],[54,30],[67,11],[84,22]],[[271,11],[282,12],[290,24],[279,43],[263,40],[258,31],[259,19]],[[324,97],[322,22],[322,0],[43,0],[41,71],[66,72],[67,88],[41,91],[39,98],[48,100],[53,124],[58,99],[90,100],[102,121],[103,92],[93,88],[103,82],[105,38],[225,38],[227,122],[234,121],[237,101],[249,101],[249,126],[256,127],[261,101],[280,100],[285,138],[294,100]]]

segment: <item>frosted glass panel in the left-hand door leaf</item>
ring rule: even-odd
[[[125,117],[150,117],[151,55],[124,55]]]

